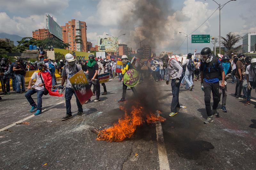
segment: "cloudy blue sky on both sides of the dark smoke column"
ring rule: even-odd
[[[45,27],[45,13],[49,13],[59,25],[64,25],[71,19],[85,21],[87,24],[87,39],[94,46],[98,36],[106,33],[117,36],[117,34],[124,32],[120,29],[120,27],[122,28],[120,23],[122,23],[124,17],[130,16],[137,1],[2,0],[0,32],[32,36],[33,30]],[[146,0],[140,0],[140,2],[142,1]],[[148,1],[150,2],[150,0]],[[228,0],[216,1],[220,4],[228,2]],[[167,5],[166,9],[159,10],[164,10],[168,18],[159,31],[163,31],[166,36],[162,40],[156,40],[157,46],[154,51],[157,55],[163,50],[176,50],[185,38],[179,32],[191,33],[218,7],[212,0],[169,0],[164,1],[164,3]],[[221,36],[225,36],[228,32],[235,32],[241,36],[248,32],[256,32],[255,6],[255,0],[237,0],[226,4],[221,10]],[[135,45],[137,42],[132,39],[132,36],[138,36],[139,32],[136,30],[136,26],[133,26],[131,30],[125,30],[126,35],[120,37],[119,42],[137,48],[137,45]],[[218,36],[219,10],[194,34]],[[192,51],[195,48],[199,51],[205,46],[212,48],[213,45],[212,43],[191,44],[190,40],[188,43],[189,51],[190,48]],[[184,41],[176,54],[186,52],[187,42]]]

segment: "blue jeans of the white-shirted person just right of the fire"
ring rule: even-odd
[[[179,103],[179,92],[180,92],[180,83],[176,85],[176,78],[172,79],[172,104],[171,104],[171,112],[177,112],[177,108],[180,107]]]

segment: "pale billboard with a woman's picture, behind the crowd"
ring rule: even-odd
[[[118,48],[118,40],[115,41],[115,39],[113,37],[98,37],[98,51],[116,52],[116,49]]]

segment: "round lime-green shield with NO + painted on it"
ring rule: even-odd
[[[123,76],[124,84],[133,87],[140,81],[140,72],[136,69],[128,69]]]

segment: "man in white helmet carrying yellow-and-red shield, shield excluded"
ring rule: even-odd
[[[65,59],[67,61],[67,64],[63,67],[62,72],[61,72],[61,85],[59,86],[59,92],[61,93],[63,88],[64,88],[64,83],[67,80],[67,84],[66,84],[66,91],[65,91],[65,100],[66,100],[66,116],[63,117],[61,120],[65,121],[69,118],[72,117],[72,112],[71,112],[71,103],[70,100],[73,96],[73,94],[75,94],[76,97],[76,105],[78,107],[78,113],[76,114],[76,116],[81,116],[83,114],[83,107],[81,105],[81,103],[79,102],[76,93],[70,83],[69,78],[74,76],[78,71],[82,70],[82,67],[79,64],[75,63],[75,59],[74,56],[70,53],[65,55]]]

